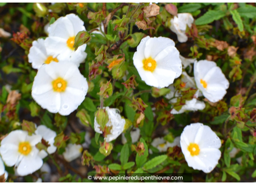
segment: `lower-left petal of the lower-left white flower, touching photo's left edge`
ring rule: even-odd
[[[16,164],[20,154],[18,152],[18,146],[14,144],[1,144],[0,153],[4,163],[7,166],[13,166]]]

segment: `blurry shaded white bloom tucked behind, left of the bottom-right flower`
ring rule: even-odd
[[[166,152],[169,147],[180,147],[180,137],[175,137],[172,143],[165,141],[163,137],[155,138],[151,145],[159,150],[159,152]]]

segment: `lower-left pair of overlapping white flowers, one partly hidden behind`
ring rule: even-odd
[[[15,166],[17,174],[26,176],[40,169],[48,153],[56,151],[53,145],[55,136],[56,133],[44,125],[37,127],[31,136],[27,131],[15,130],[1,141],[0,154],[7,166]],[[39,151],[36,147],[42,139],[48,141],[47,151]]]

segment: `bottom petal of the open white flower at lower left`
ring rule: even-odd
[[[17,173],[20,176],[26,176],[35,172],[36,170],[39,170],[42,165],[43,160],[39,156],[24,156],[17,168]]]

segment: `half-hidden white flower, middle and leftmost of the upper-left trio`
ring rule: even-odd
[[[32,47],[29,49],[28,62],[32,63],[34,69],[39,69],[43,64],[59,62],[56,57],[47,54],[44,42],[43,38],[39,38],[32,42]]]

